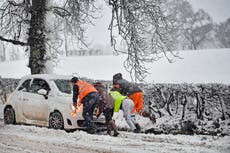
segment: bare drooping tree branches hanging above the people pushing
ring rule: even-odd
[[[125,68],[142,80],[148,69],[145,62],[153,62],[171,50],[170,25],[162,10],[161,0],[109,0],[112,19],[109,26],[111,44],[117,52],[126,53]],[[114,30],[122,37],[127,51],[116,49]]]

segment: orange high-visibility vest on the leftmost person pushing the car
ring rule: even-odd
[[[78,80],[76,85],[78,86],[78,98],[79,103],[82,103],[83,98],[91,92],[98,92],[91,84]]]

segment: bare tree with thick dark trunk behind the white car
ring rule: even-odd
[[[46,63],[51,60],[51,33],[65,26],[84,43],[84,25],[96,11],[94,0],[3,0],[0,2],[0,40],[29,50],[31,74],[46,73]],[[53,25],[52,14],[57,18]],[[51,15],[50,15],[51,16]],[[49,17],[50,17],[49,16]],[[55,51],[53,51],[55,53]]]

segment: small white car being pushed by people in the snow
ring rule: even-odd
[[[82,108],[71,114],[70,79],[50,74],[23,77],[4,105],[4,122],[66,130],[85,128]]]

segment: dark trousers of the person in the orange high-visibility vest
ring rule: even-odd
[[[82,115],[85,119],[87,128],[94,128],[93,112],[99,101],[99,94],[97,92],[91,92],[83,99],[83,112]]]

